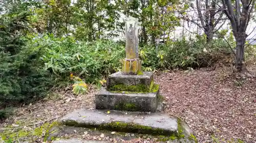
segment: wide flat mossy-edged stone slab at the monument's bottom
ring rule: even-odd
[[[188,126],[179,122],[177,118],[166,113],[141,113],[111,110],[76,109],[62,117],[59,122],[68,126],[78,126],[145,134],[190,135]]]

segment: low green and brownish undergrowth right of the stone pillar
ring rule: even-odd
[[[160,45],[157,50],[153,45],[140,50],[143,66],[151,69],[210,67],[230,57],[232,51],[223,39],[212,40],[211,43],[206,43],[204,38],[178,40]]]

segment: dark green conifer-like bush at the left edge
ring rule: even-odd
[[[42,97],[51,82],[38,52],[25,46],[31,40],[24,36],[29,32],[29,15],[0,17],[0,100],[5,103]]]

